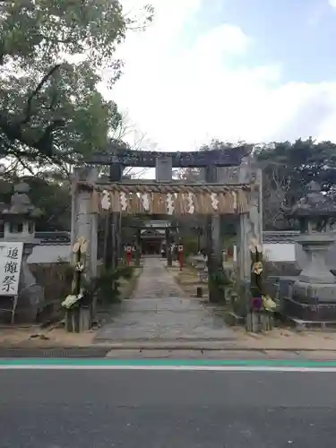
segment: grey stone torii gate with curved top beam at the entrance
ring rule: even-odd
[[[262,174],[248,157],[247,145],[227,150],[194,152],[131,151],[99,153],[90,165],[73,176],[72,242],[78,237],[88,241],[86,274],[97,274],[98,216],[108,212],[108,226],[114,260],[118,258],[116,228],[120,215],[160,214],[206,217],[210,301],[220,300],[221,291],[211,278],[222,270],[220,219],[239,215],[237,265],[241,286],[249,287],[251,258],[249,245],[262,243]],[[94,165],[110,167],[108,183],[99,182]],[[156,168],[155,180],[136,184],[122,179],[125,167]],[[202,168],[204,181],[186,184],[173,180],[173,168]],[[108,203],[108,210],[106,204]],[[105,205],[104,205],[105,204]],[[104,205],[104,206],[103,206]]]

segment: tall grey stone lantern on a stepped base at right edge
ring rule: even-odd
[[[292,295],[285,300],[290,317],[303,321],[336,320],[336,278],[325,263],[335,237],[329,233],[336,206],[315,182],[307,185],[308,193],[289,211],[289,218],[300,225],[297,243],[307,254],[306,267],[293,283]]]

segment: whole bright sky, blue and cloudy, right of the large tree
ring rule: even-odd
[[[122,0],[154,6],[104,90],[161,151],[211,139],[336,142],[336,0]]]

